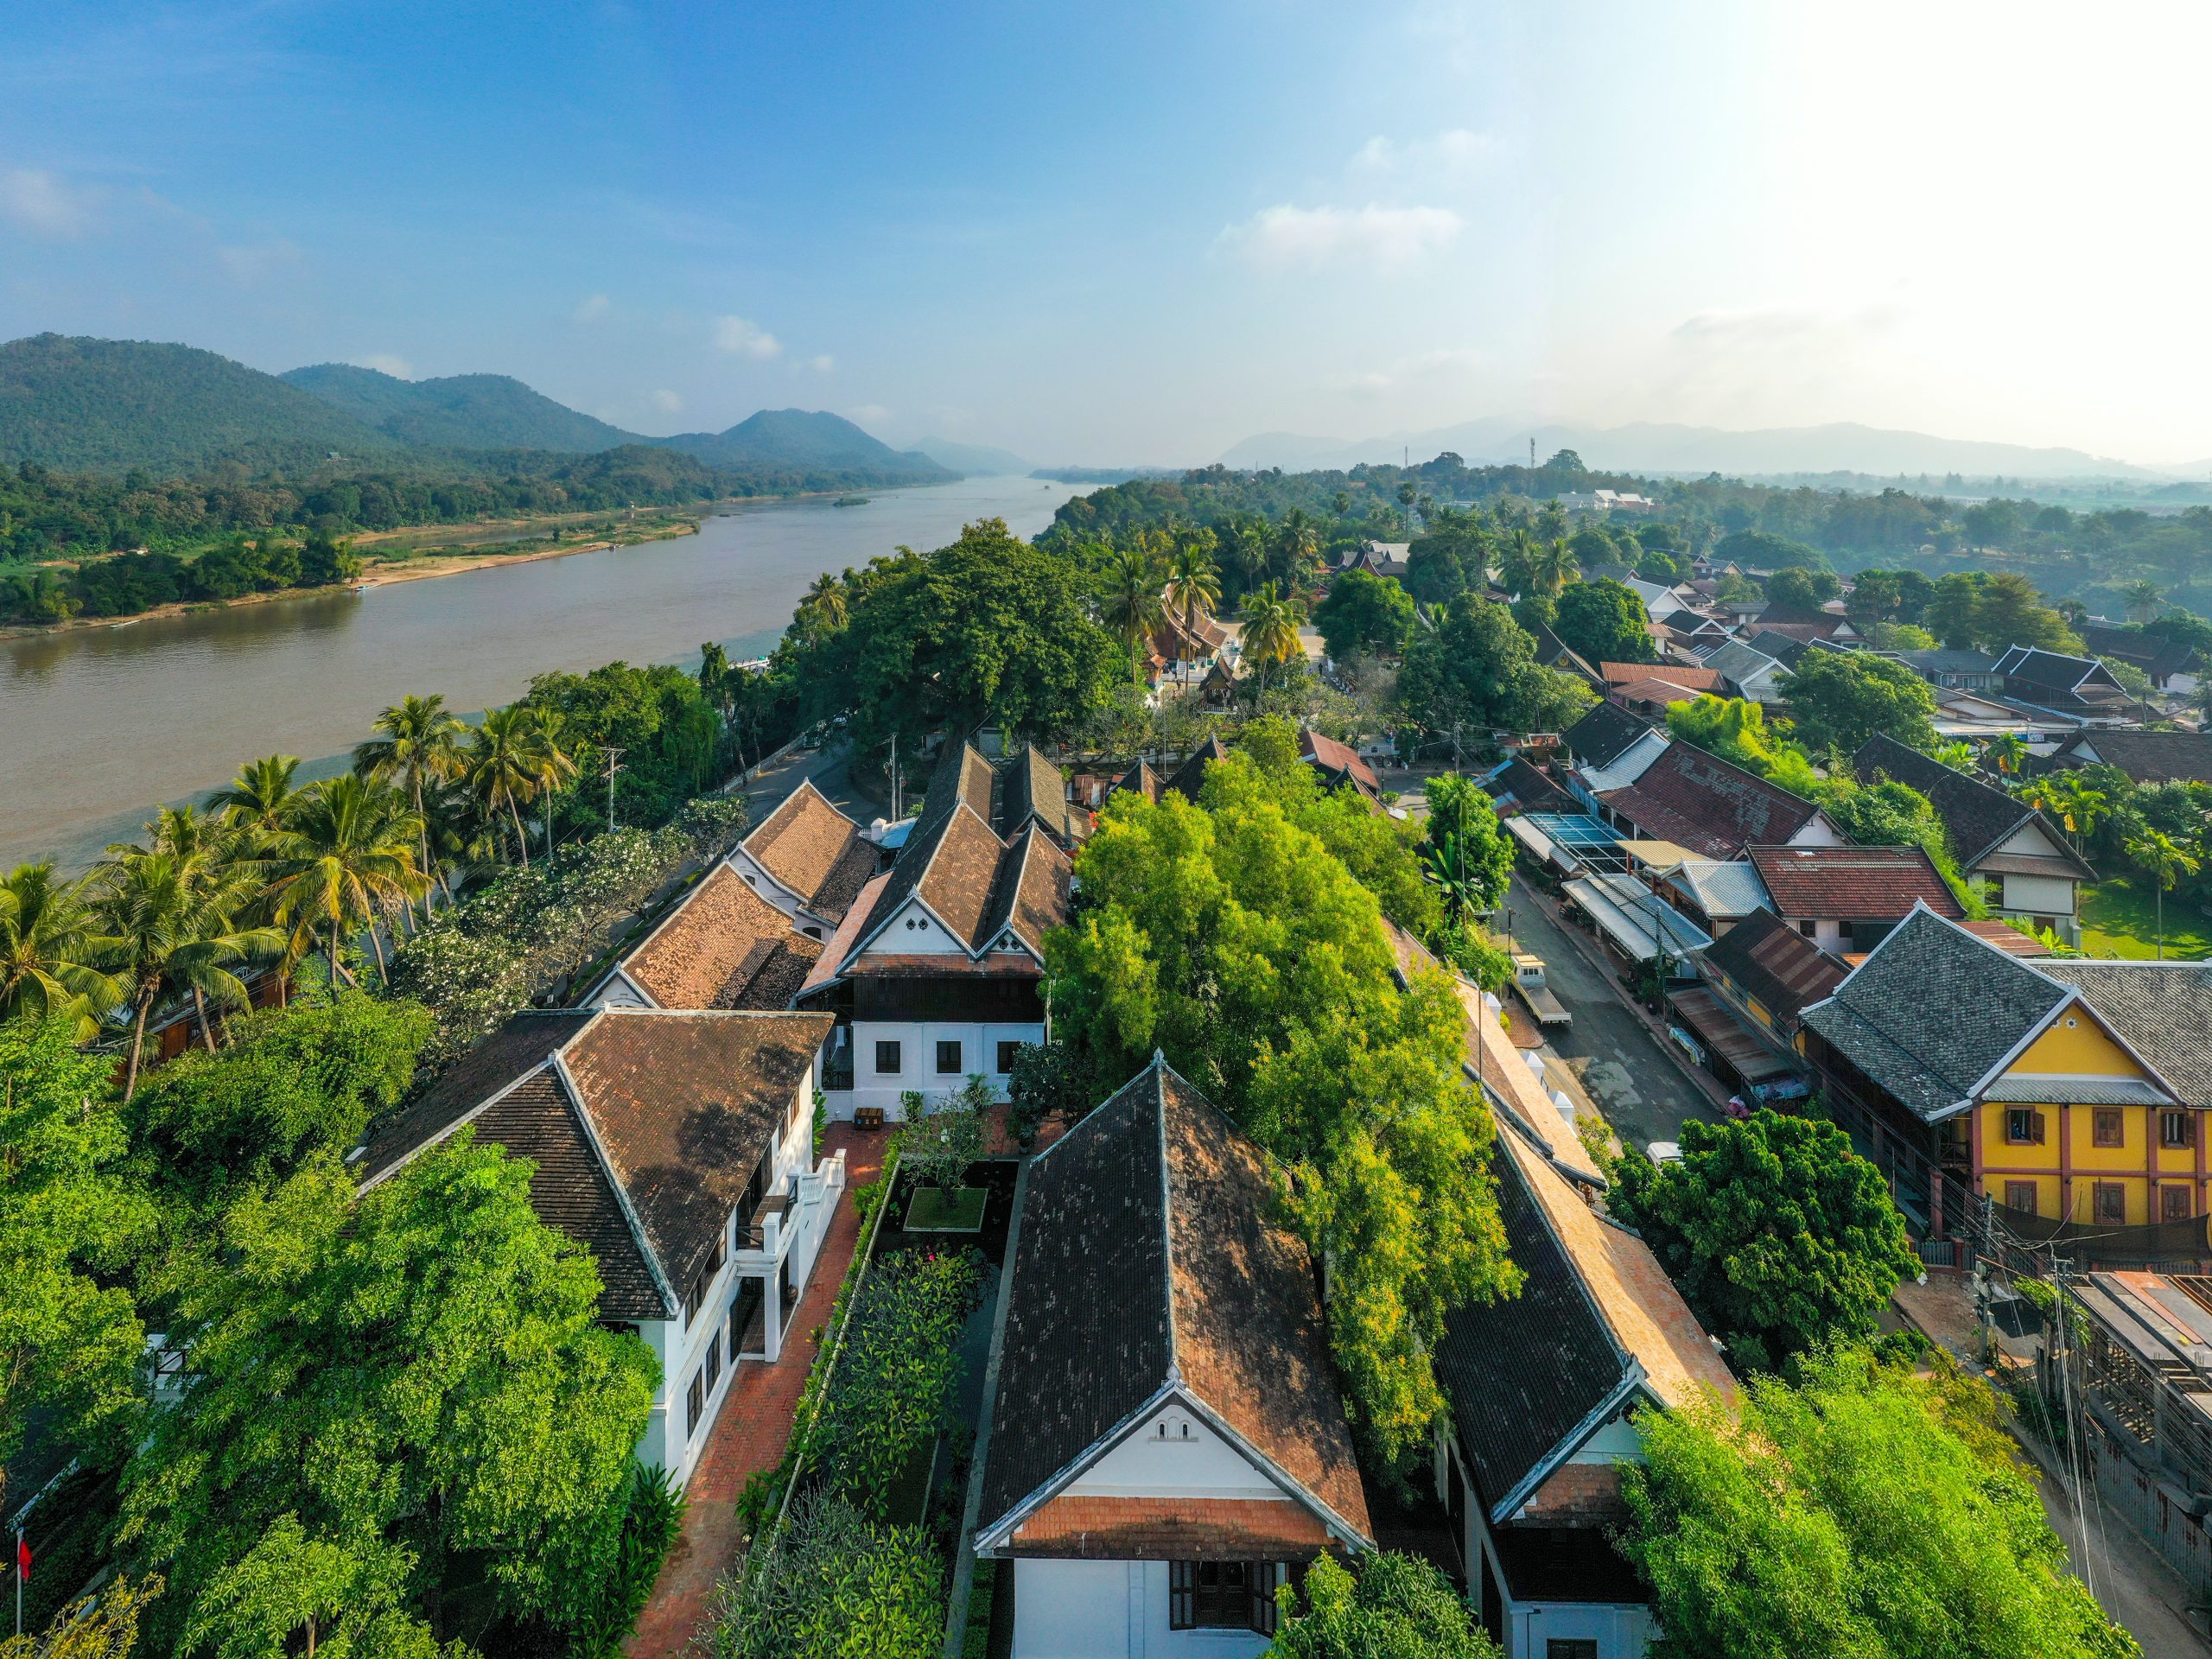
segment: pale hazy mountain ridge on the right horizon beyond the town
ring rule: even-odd
[[[2033,449],[2028,445],[1978,442],[1971,438],[1933,438],[1924,431],[1893,431],[1838,420],[1825,427],[1770,427],[1759,431],[1725,431],[1721,427],[1683,427],[1635,422],[1628,427],[1522,427],[1511,420],[1467,420],[1455,427],[1398,434],[1345,442],[1340,438],[1307,438],[1290,431],[1267,431],[1245,438],[1221,456],[1228,467],[1283,467],[1285,471],[1325,471],[1358,462],[1396,462],[1411,453],[1416,462],[1451,451],[1478,462],[1526,462],[1528,438],[1535,438],[1537,460],[1559,449],[1573,449],[1599,471],[1646,473],[1869,473],[1874,478],[1918,478],[1920,473],[1962,473],[1975,478],[2159,478],[2166,469],[2135,467],[2124,460],[2090,456],[2081,449]]]

